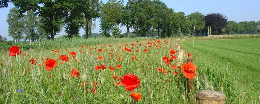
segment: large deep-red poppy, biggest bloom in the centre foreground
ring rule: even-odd
[[[132,91],[140,86],[140,80],[133,74],[126,74],[121,76],[120,80],[127,91]]]

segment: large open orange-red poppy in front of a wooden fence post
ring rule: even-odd
[[[198,68],[194,64],[192,64],[190,62],[186,62],[182,66],[183,75],[186,78],[189,78],[189,79],[192,79],[192,78],[194,78],[196,76],[195,70],[197,70],[197,69]]]

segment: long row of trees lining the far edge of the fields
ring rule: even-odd
[[[106,4],[101,0],[0,0],[0,8],[8,6],[6,2],[17,7],[10,10],[7,19],[14,40],[55,39],[63,27],[67,37],[79,36],[79,29],[84,28],[88,38],[96,18],[100,18],[100,32],[106,37],[119,36],[121,26],[126,27],[128,37],[130,28],[136,36],[147,36],[151,30],[152,36],[166,37],[207,35],[208,28],[213,35],[257,33],[260,27],[260,21],[237,23],[220,13],[185,16],[159,0],[109,0]]]

